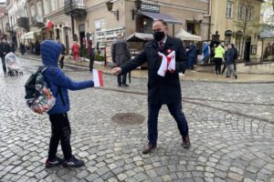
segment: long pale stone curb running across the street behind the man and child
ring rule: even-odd
[[[36,58],[36,57],[29,57],[29,56],[22,56],[22,55],[17,55],[18,57],[21,58],[26,58],[26,59],[31,59],[31,60],[36,60],[36,61],[41,61],[41,58]],[[66,63],[66,62],[65,62]],[[65,66],[69,66],[69,67],[77,67],[77,68],[81,68],[81,69],[86,69],[89,70],[89,67],[87,66],[76,66],[74,64],[70,64],[70,63],[66,63]],[[111,75],[111,73],[106,72],[105,70],[102,70],[104,74],[106,75]],[[139,79],[148,79],[147,76],[142,77],[142,76],[132,76],[134,78],[139,78]],[[219,83],[219,84],[274,84],[274,81],[248,81],[248,82],[233,82],[233,81],[218,81],[218,80],[191,80],[191,79],[184,79],[184,77],[179,77],[180,81],[187,81],[187,82],[201,82],[201,83]]]

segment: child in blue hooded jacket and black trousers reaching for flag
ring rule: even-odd
[[[71,129],[68,120],[69,90],[81,90],[94,86],[93,81],[74,82],[58,68],[58,59],[61,57],[61,45],[53,40],[46,40],[41,44],[43,66],[48,66],[43,72],[50,90],[56,97],[56,104],[47,112],[51,123],[51,137],[49,142],[46,167],[81,167],[83,160],[72,155],[70,146]],[[39,111],[37,111],[39,112]],[[64,159],[57,155],[58,144],[61,143]]]

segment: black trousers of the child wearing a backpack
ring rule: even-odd
[[[53,160],[58,151],[59,141],[65,159],[72,157],[70,147],[71,129],[68,121],[68,114],[49,115],[51,123],[51,137],[49,142],[48,159]]]

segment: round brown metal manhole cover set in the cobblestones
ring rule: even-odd
[[[118,113],[111,120],[119,125],[141,125],[145,116],[136,113]]]

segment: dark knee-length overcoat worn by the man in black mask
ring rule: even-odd
[[[167,72],[165,76],[158,76],[157,71],[162,63],[161,56],[158,52],[168,55],[175,51],[176,67],[174,73]],[[134,57],[131,61],[121,66],[121,73],[132,71],[138,66],[147,62],[148,65],[148,102],[149,104],[173,104],[181,102],[181,85],[178,73],[183,72],[186,68],[186,56],[183,42],[180,39],[167,36],[160,51],[158,42],[152,40],[148,42],[142,53]]]

